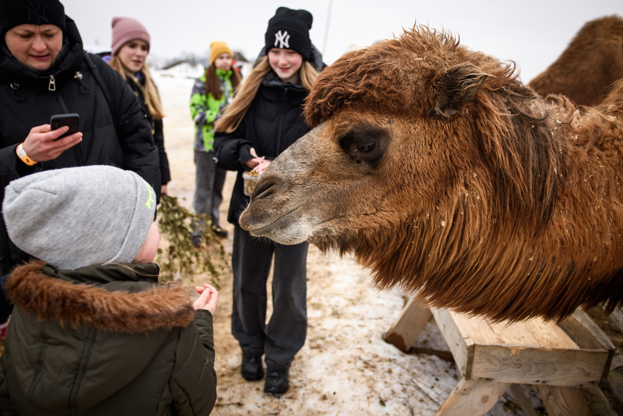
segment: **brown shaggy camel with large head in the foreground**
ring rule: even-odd
[[[512,62],[414,26],[323,70],[304,111],[240,217],[252,235],[496,322],[621,304],[623,81],[594,108],[543,99]]]

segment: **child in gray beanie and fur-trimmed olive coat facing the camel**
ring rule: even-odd
[[[204,284],[191,303],[158,284],[155,208],[143,178],[110,166],[7,185],[9,237],[39,260],[5,282],[0,414],[210,414],[218,293]]]

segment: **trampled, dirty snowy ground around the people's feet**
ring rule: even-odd
[[[164,137],[173,177],[169,194],[191,206],[193,123],[188,102],[194,80],[180,75],[156,75],[156,82],[166,112]],[[221,206],[221,226],[230,231],[225,219],[234,180],[235,173],[229,172]],[[231,251],[231,239],[224,245]],[[290,369],[287,394],[265,395],[263,381],[246,382],[240,375],[241,353],[230,331],[231,275],[222,282],[214,317],[219,381],[213,415],[432,415],[460,379],[452,362],[404,354],[383,341],[404,305],[400,291],[379,292],[371,286],[368,271],[353,259],[325,256],[310,246],[307,342]],[[430,322],[416,346],[447,350]],[[534,400],[538,405],[538,398]],[[503,395],[489,415],[522,415],[513,402],[508,393]]]

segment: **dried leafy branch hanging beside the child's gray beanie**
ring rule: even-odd
[[[158,228],[162,235],[158,249],[161,281],[192,279],[194,274],[209,272],[212,286],[220,286],[219,276],[229,269],[221,240],[212,232],[211,220],[195,214],[178,203],[178,198],[163,195],[158,207]],[[198,246],[193,246],[195,229],[200,232]]]

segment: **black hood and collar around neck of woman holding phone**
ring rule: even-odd
[[[0,76],[10,81],[25,79],[45,79],[50,75],[74,75],[76,67],[82,62],[84,54],[82,37],[78,27],[70,17],[65,16],[66,30],[63,32],[63,47],[50,69],[42,71],[21,64],[8,51],[4,40],[0,48]]]

